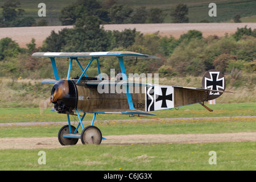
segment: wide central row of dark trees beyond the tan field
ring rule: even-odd
[[[118,5],[115,0],[105,0],[102,3],[94,0],[77,0],[61,10],[59,20],[62,25],[72,25],[76,20],[92,15],[97,16],[103,23],[123,24],[163,23],[167,14],[155,7],[146,10],[146,6],[141,6],[133,10],[129,6]],[[174,23],[189,22],[187,5],[176,5],[170,10],[170,15]]]

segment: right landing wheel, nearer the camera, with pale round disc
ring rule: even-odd
[[[102,134],[96,126],[87,126],[81,133],[82,144],[100,144]]]

